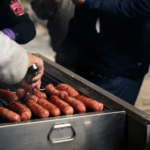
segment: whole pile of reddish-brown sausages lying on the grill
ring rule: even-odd
[[[86,108],[93,111],[102,111],[104,105],[94,99],[79,94],[74,88],[60,83],[55,88],[52,84],[45,86],[47,95],[39,90],[28,91],[25,104],[19,100],[24,97],[24,89],[18,89],[15,93],[0,89],[0,98],[9,102],[7,108],[0,107],[0,118],[12,122],[30,120],[32,113],[39,118],[49,116],[72,115],[75,112],[85,113]]]

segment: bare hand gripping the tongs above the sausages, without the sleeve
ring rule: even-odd
[[[38,75],[32,78],[31,85],[28,85],[25,78],[20,81],[20,84],[23,85],[25,89],[29,89],[30,87],[32,87],[39,90],[41,86],[41,78],[44,74],[44,63],[41,58],[38,58],[29,52],[28,52],[28,57],[29,57],[28,67],[31,67],[33,64],[36,64],[38,67]]]

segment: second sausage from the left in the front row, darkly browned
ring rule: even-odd
[[[31,119],[32,116],[31,110],[28,107],[26,107],[24,104],[21,104],[16,101],[11,101],[9,103],[9,108],[12,111],[18,113],[22,121]]]

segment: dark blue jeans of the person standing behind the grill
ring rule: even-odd
[[[95,74],[93,77],[81,75],[90,82],[98,85],[106,91],[114,94],[115,96],[123,99],[124,101],[135,104],[138,93],[141,88],[144,76],[138,79],[129,79],[124,77],[102,76]]]

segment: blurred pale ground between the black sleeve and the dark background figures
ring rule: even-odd
[[[37,17],[31,7],[32,0],[19,0],[18,2],[21,4],[23,11],[29,14],[36,27],[36,37],[22,46],[30,52],[42,53],[52,61],[55,61],[56,53],[51,47],[51,39],[47,30],[47,20],[41,20]]]

